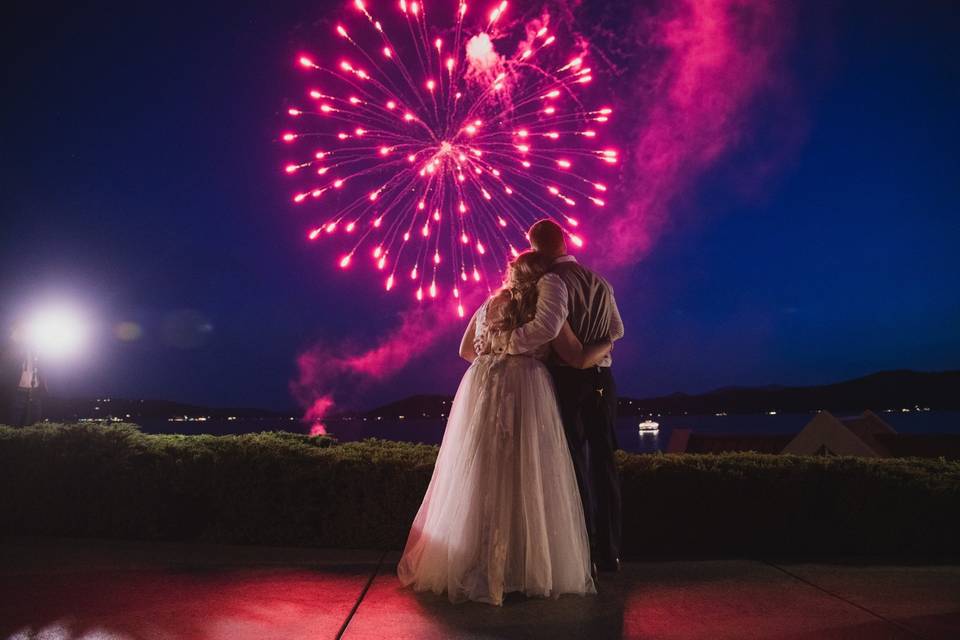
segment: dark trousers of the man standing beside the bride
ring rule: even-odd
[[[577,474],[593,561],[620,558],[620,477],[614,461],[617,387],[609,367],[550,367]]]

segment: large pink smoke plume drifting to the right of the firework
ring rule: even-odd
[[[661,55],[637,83],[643,115],[625,149],[624,205],[594,220],[601,266],[642,259],[678,199],[749,135],[756,101],[782,87],[782,14],[765,0],[685,0],[644,21]]]

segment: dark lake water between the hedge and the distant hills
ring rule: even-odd
[[[629,417],[617,420],[617,439],[620,447],[634,453],[663,451],[670,441],[670,432],[675,428],[691,428],[703,433],[749,433],[778,434],[796,433],[810,421],[813,413],[788,413],[777,415],[728,415],[728,416],[661,416],[653,418],[660,424],[657,433],[641,434],[637,425],[642,418]],[[960,411],[925,411],[879,413],[883,420],[900,433],[956,433],[960,434]],[[327,423],[327,430],[342,442],[365,438],[383,438],[406,442],[440,444],[445,421],[423,420],[376,420],[372,418],[334,420]],[[142,425],[148,433],[212,433],[216,435],[250,433],[256,431],[306,431],[296,421],[276,419],[258,421],[207,422],[151,422]]]

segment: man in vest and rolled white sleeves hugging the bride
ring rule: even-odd
[[[550,264],[537,285],[536,316],[510,339],[510,353],[525,353],[550,342],[569,322],[583,344],[623,337],[623,322],[610,284],[567,255],[563,229],[552,220],[536,222],[530,246]],[[620,478],[613,453],[617,387],[610,356],[599,366],[574,369],[556,355],[550,366],[560,415],[580,487],[593,561],[601,571],[620,568]]]

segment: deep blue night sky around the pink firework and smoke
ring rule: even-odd
[[[2,319],[57,293],[101,327],[90,358],[50,372],[54,393],[292,407],[300,351],[396,324],[409,300],[337,273],[280,171],[290,62],[323,3],[17,4],[0,44]],[[613,277],[621,393],[960,366],[960,11],[825,4],[791,14],[793,115],[700,176]],[[114,338],[121,321],[142,337]],[[458,339],[366,404],[452,391]]]

